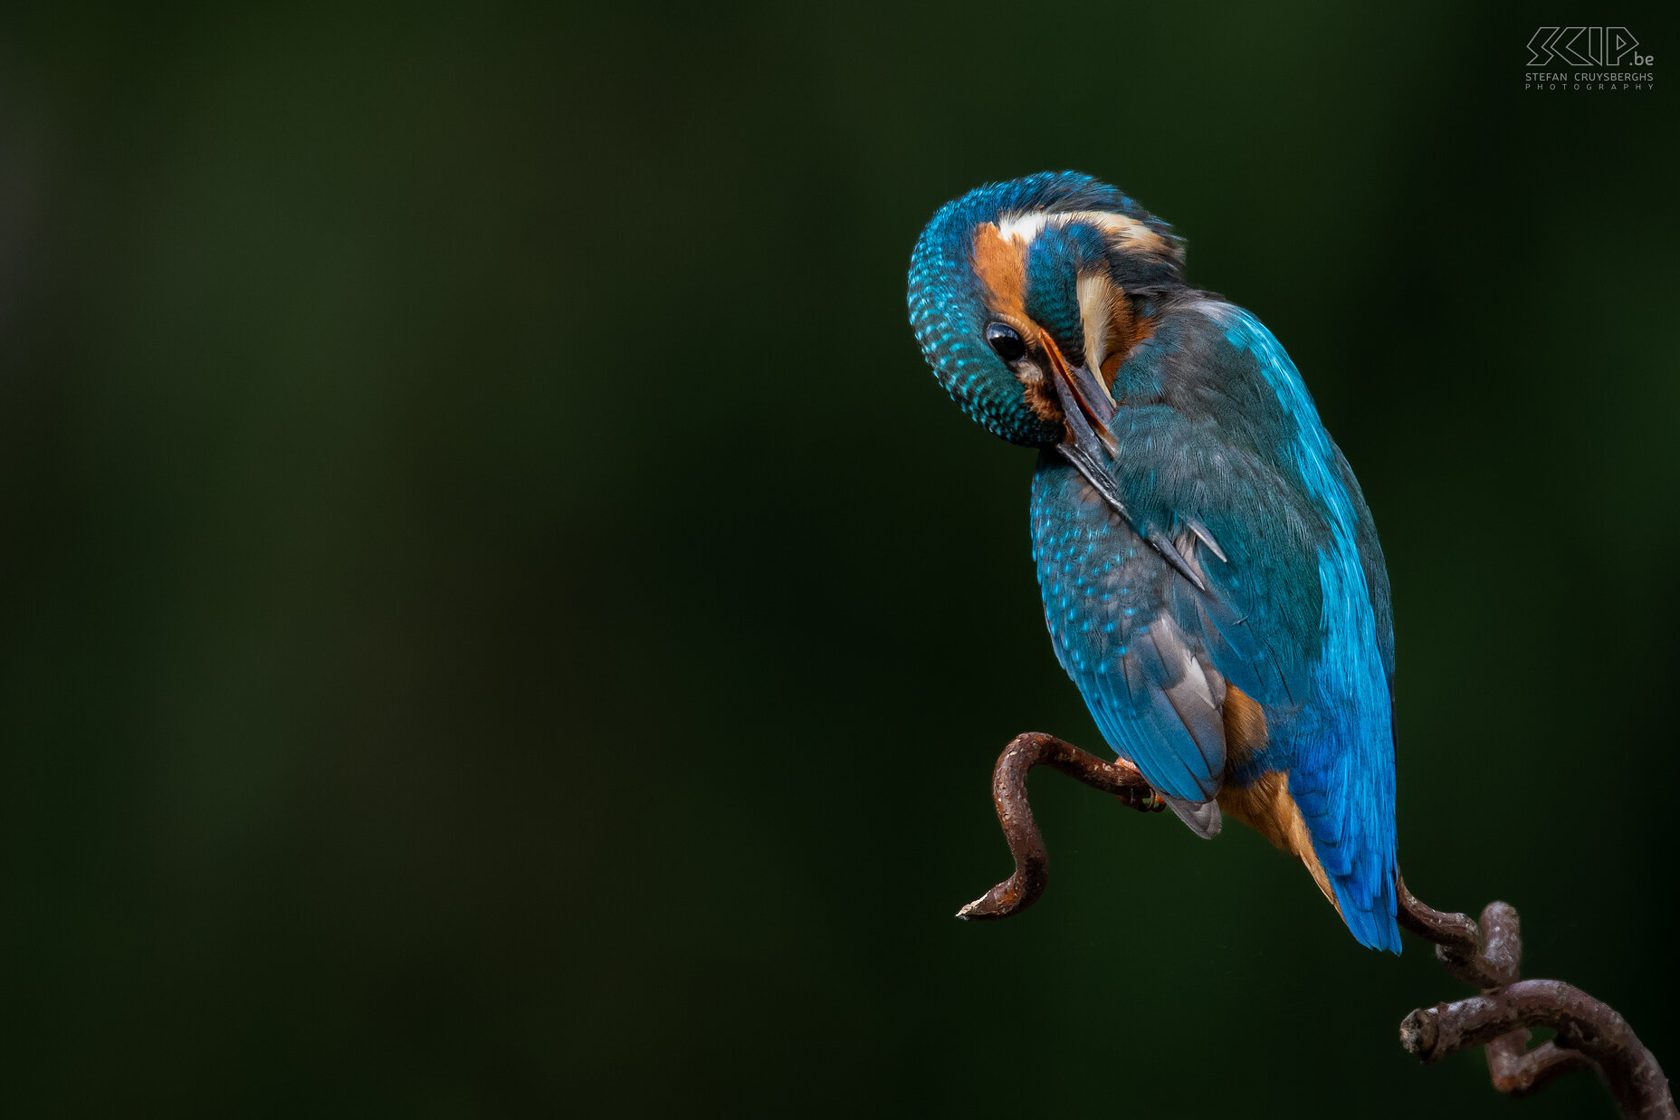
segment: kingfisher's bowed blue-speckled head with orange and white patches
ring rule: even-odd
[[[1013,444],[1109,442],[1110,388],[1144,336],[1139,304],[1183,286],[1183,242],[1074,172],[946,203],[911,256],[911,326],[963,410]]]

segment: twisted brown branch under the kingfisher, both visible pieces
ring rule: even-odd
[[[1050,881],[1050,854],[1026,804],[1026,774],[1047,765],[1142,812],[1166,807],[1142,774],[1127,762],[1104,762],[1053,735],[1016,735],[991,774],[991,799],[1015,873],[958,910],[966,920],[1008,918],[1032,906]],[[1396,880],[1396,920],[1435,943],[1446,970],[1482,989],[1455,1004],[1413,1011],[1399,1024],[1401,1044],[1425,1063],[1477,1046],[1485,1048],[1494,1088],[1527,1096],[1572,1070],[1594,1068],[1630,1120],[1680,1120],[1668,1078],[1633,1028],[1606,1004],[1562,980],[1519,980],[1522,937],[1517,910],[1494,901],[1477,925],[1462,913],[1425,906]],[[1551,1028],[1557,1038],[1529,1049],[1529,1028]]]

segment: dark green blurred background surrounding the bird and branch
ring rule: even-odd
[[[237,8],[0,37],[8,1112],[1608,1115],[1420,1068],[1463,989],[1240,827],[1040,777],[1048,896],[951,918],[1003,743],[1099,738],[904,271],[1063,166],[1359,471],[1408,880],[1680,1068],[1667,86],[1457,5]]]

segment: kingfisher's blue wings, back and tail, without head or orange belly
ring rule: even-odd
[[[1094,508],[1057,452],[1035,483],[1057,656],[1110,745],[1205,836],[1218,827],[1223,689],[1258,701],[1273,730],[1263,769],[1289,772],[1342,917],[1366,945],[1394,947],[1393,639],[1351,471],[1245,311],[1168,321],[1126,365],[1109,462],[1126,516]]]

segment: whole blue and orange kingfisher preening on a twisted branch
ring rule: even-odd
[[[1109,747],[1398,954],[1376,526],[1284,346],[1183,267],[1171,225],[1089,175],[988,183],[917,239],[911,326],[969,419],[1038,449],[1045,624]]]

